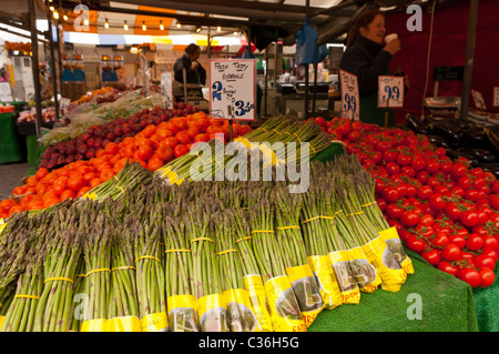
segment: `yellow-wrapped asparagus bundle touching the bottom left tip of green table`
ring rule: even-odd
[[[305,243],[299,227],[303,206],[301,194],[291,194],[285,184],[278,184],[275,194],[277,243],[283,250],[286,267],[305,324],[309,326],[325,307],[317,281],[307,261]]]

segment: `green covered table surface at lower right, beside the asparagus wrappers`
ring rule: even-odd
[[[323,310],[308,332],[478,332],[471,286],[406,252],[415,273],[400,291],[379,287],[371,294],[361,293],[358,305]],[[420,296],[421,320],[407,316],[414,295]]]

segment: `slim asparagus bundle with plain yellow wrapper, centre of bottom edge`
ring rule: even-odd
[[[248,292],[251,310],[256,316],[256,332],[272,332],[272,318],[266,305],[265,289],[253,251],[251,225],[246,210],[235,209],[234,243],[241,256],[244,289]]]

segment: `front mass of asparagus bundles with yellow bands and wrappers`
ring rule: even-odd
[[[120,173],[133,171],[141,179],[120,198],[9,219],[0,259],[17,266],[0,266],[2,332],[306,332],[322,311],[354,303],[340,289],[398,291],[410,274],[356,156],[312,162],[306,193],[287,180],[171,184],[136,162]],[[324,254],[305,224],[327,227],[314,234]]]

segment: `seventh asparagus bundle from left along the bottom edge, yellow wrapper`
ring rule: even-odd
[[[206,210],[207,208],[207,210]],[[225,297],[215,260],[211,212],[213,204],[192,204],[187,210],[186,233],[193,260],[194,295],[202,332],[228,332]]]

